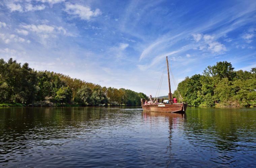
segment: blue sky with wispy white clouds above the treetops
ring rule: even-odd
[[[1,0],[0,58],[155,96],[217,61],[256,67],[256,1]],[[175,90],[173,82],[172,91]],[[160,95],[168,94],[167,73]]]

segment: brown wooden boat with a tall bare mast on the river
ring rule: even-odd
[[[166,63],[167,63],[167,72],[168,72],[168,83],[169,83],[169,103],[164,104],[143,104],[141,101],[141,106],[144,111],[149,112],[166,112],[166,113],[185,113],[187,108],[187,103],[173,103],[172,93],[171,93],[171,86],[170,86],[170,76],[169,76],[169,64],[168,58],[166,56]]]

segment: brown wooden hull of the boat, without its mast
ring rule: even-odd
[[[147,104],[142,105],[144,111],[149,112],[165,112],[165,113],[185,113],[187,103],[168,103],[168,104]]]

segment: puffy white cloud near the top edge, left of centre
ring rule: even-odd
[[[95,17],[101,14],[100,9],[91,10],[89,6],[83,6],[78,4],[66,3],[65,10],[68,14],[75,15],[83,20],[90,20],[91,17]]]

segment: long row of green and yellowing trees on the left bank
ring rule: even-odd
[[[81,104],[83,106],[139,106],[143,93],[106,88],[49,71],[35,71],[10,58],[0,59],[0,103],[33,106]]]

